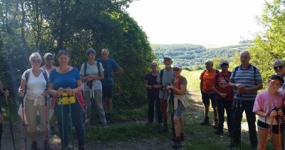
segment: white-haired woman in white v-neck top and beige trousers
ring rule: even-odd
[[[21,77],[21,85],[19,87],[19,96],[24,96],[24,107],[25,115],[28,122],[28,134],[31,138],[31,149],[38,149],[36,144],[36,116],[39,114],[41,122],[41,131],[46,129],[46,118],[45,118],[45,98],[48,94],[46,91],[46,84],[48,73],[44,69],[40,69],[41,66],[41,55],[38,52],[34,52],[29,57],[31,63],[31,69],[24,72]],[[48,145],[48,139],[46,132],[43,132],[44,149],[50,149]]]

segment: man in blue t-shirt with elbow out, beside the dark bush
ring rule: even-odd
[[[102,90],[103,90],[103,108],[105,111],[105,117],[107,123],[110,124],[110,115],[112,113],[113,103],[113,86],[114,79],[113,77],[118,74],[123,74],[123,69],[117,64],[114,59],[109,58],[109,50],[102,49],[101,51],[102,58],[97,59],[103,68],[104,68],[104,79],[102,81]]]

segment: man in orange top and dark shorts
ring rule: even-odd
[[[214,109],[214,128],[218,126],[218,111],[217,111],[217,100],[216,94],[214,93],[213,84],[216,74],[219,73],[218,70],[213,69],[214,62],[210,59],[205,61],[206,70],[204,70],[200,76],[200,91],[202,94],[202,101],[205,107],[204,110],[204,121],[201,125],[209,124],[209,99],[211,99],[212,108]]]

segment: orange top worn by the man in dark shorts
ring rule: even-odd
[[[209,72],[208,70],[206,70],[204,72],[204,76],[203,73],[200,76],[200,80],[203,81],[203,91],[206,93],[214,93],[213,90],[213,84],[214,84],[214,78],[216,77],[216,70],[212,69],[211,72]]]

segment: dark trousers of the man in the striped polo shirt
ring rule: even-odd
[[[239,102],[242,102],[239,105]],[[239,109],[240,107],[240,109]],[[233,141],[239,143],[239,137],[241,135],[242,113],[245,111],[247,116],[247,124],[249,126],[249,140],[252,146],[257,146],[257,129],[255,125],[256,116],[252,112],[254,108],[254,101],[242,101],[242,99],[234,98],[234,110],[233,112]]]

